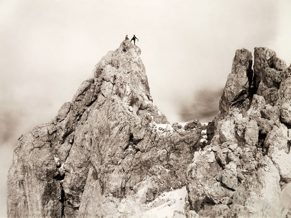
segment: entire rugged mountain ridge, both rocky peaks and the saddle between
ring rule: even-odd
[[[171,125],[140,54],[123,41],[19,138],[8,217],[291,217],[291,66],[237,50],[217,117]]]

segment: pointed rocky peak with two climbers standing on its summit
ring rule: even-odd
[[[202,126],[168,123],[152,103],[140,53],[123,41],[51,122],[18,140],[8,217],[128,217],[185,186]]]

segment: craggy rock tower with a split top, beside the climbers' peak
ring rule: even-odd
[[[273,50],[237,50],[209,145],[187,169],[190,217],[291,216],[291,66]]]

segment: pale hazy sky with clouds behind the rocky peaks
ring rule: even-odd
[[[290,11],[290,0],[0,0],[2,178],[18,136],[50,121],[126,34],[139,38],[151,95],[170,123],[205,122],[237,49],[269,47],[290,65]]]

